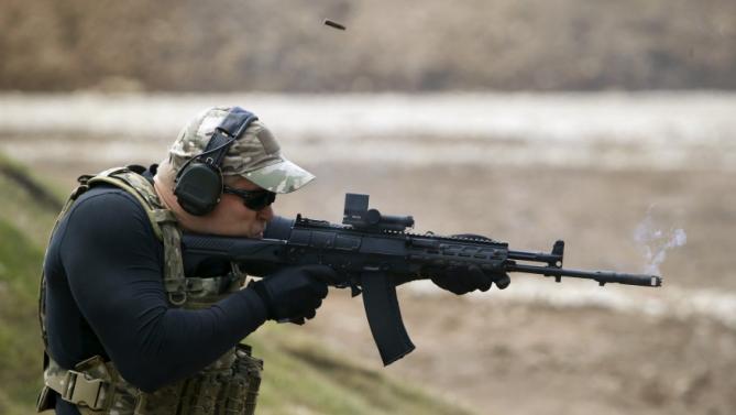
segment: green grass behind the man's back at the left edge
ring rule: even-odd
[[[0,414],[20,415],[32,413],[41,387],[37,284],[56,212],[18,182],[45,189],[26,168],[0,154]]]

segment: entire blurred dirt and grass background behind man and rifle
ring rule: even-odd
[[[366,193],[417,231],[564,239],[569,267],[666,279],[413,283],[417,350],[385,369],[332,291],[246,339],[262,413],[736,411],[736,2],[0,0],[0,413],[33,411],[40,264],[76,177],[158,162],[213,105],[317,174],[283,216],[339,222]]]

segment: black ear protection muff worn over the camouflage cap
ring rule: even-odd
[[[234,107],[215,129],[205,151],[189,159],[176,174],[174,195],[188,214],[204,216],[212,211],[222,196],[221,165],[230,145],[251,122],[252,112]]]

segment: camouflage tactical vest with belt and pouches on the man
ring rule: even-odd
[[[184,276],[180,229],[174,214],[163,207],[153,185],[141,175],[142,172],[140,166],[116,167],[96,176],[79,177],[79,186],[62,209],[52,234],[79,195],[91,186],[111,184],[139,200],[156,237],[164,243],[163,283],[171,306],[205,308],[240,290],[245,275],[235,265],[224,276]],[[39,316],[47,349],[45,287],[42,274]],[[55,391],[63,400],[75,404],[83,415],[250,415],[255,411],[262,371],[263,361],[251,357],[249,346],[238,345],[194,376],[145,393],[125,381],[111,361],[106,362],[99,356],[78,363],[74,369],[66,369],[46,352],[44,387],[37,409],[54,407],[52,391]]]

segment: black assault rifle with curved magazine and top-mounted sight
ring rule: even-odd
[[[413,227],[413,217],[382,215],[369,209],[367,195],[347,194],[342,225],[301,215],[296,220],[276,217],[264,239],[185,234],[182,245],[186,267],[216,259],[234,262],[252,275],[305,264],[332,267],[340,281],[331,284],[352,288],[353,296],[363,294],[371,332],[385,365],[414,350],[402,320],[396,281],[428,279],[449,267],[475,265],[486,272],[551,276],[557,282],[570,276],[594,280],[600,285],[662,284],[658,275],[563,269],[563,241],[554,242],[550,253],[514,251],[506,242],[483,237],[406,231]]]

